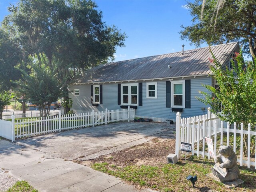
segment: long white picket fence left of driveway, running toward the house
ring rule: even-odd
[[[56,116],[48,116],[46,118],[28,118],[12,121],[0,121],[0,136],[10,139],[30,137],[50,132],[58,132],[62,130],[70,130],[76,128],[97,126],[108,124],[110,122],[130,121],[134,119],[135,109],[120,109],[89,113],[69,114]]]

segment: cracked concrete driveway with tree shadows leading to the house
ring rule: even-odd
[[[0,140],[0,168],[28,181],[40,192],[135,192],[119,178],[70,160],[95,158],[154,137],[174,137],[173,128],[166,124],[123,122],[38,136],[16,143]]]

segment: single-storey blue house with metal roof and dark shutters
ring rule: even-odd
[[[223,68],[230,65],[238,42],[211,46]],[[77,113],[136,108],[136,117],[156,121],[207,113],[198,90],[208,91],[202,84],[214,86],[210,76],[212,58],[209,47],[182,52],[110,62],[96,66],[70,84],[72,110]]]

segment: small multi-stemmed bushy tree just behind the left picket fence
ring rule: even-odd
[[[58,80],[57,68],[62,63],[54,56],[52,61],[45,54],[29,57],[31,73],[17,68],[22,73],[23,81],[16,81],[22,91],[26,92],[26,98],[29,98],[33,104],[39,107],[40,114],[47,116],[52,102],[56,102],[62,96],[62,84]]]

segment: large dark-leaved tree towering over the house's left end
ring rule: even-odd
[[[44,52],[62,62],[59,79],[68,99],[68,83],[84,70],[114,58],[117,46],[124,46],[126,34],[102,21],[102,12],[91,0],[20,0],[8,8],[2,30],[22,50]],[[68,78],[66,78],[68,76]]]

